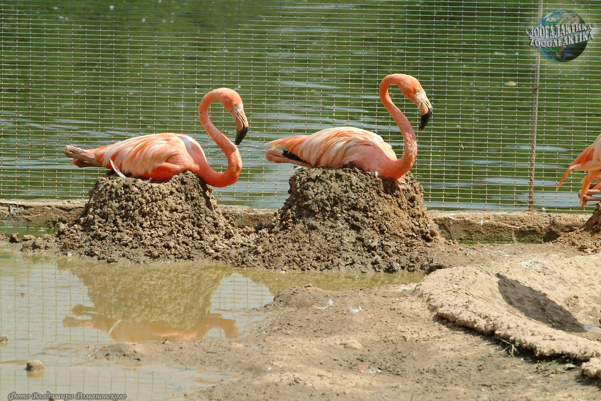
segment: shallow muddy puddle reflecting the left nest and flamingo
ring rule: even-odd
[[[2,228],[40,236],[40,228]],[[236,379],[202,366],[99,364],[87,348],[99,344],[178,342],[242,337],[270,317],[260,307],[293,286],[368,289],[417,282],[416,273],[327,275],[200,266],[106,263],[22,254],[0,242],[0,398],[8,393],[126,393],[162,400]],[[29,360],[43,374],[27,375]]]

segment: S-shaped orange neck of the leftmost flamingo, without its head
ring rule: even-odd
[[[194,171],[194,173],[202,177],[204,182],[208,185],[218,187],[232,185],[238,180],[240,171],[242,171],[242,159],[240,158],[238,148],[227,138],[227,136],[222,134],[209,119],[210,104],[215,100],[221,100],[223,97],[224,91],[221,89],[216,89],[207,93],[203,97],[203,100],[201,100],[200,106],[198,106],[198,117],[209,136],[213,138],[213,141],[215,141],[219,148],[225,153],[225,157],[227,157],[227,170],[225,170],[224,173],[219,173],[209,166],[209,162],[207,162],[206,158],[200,158],[200,160],[197,161],[198,170]]]

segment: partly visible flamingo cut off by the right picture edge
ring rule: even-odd
[[[566,173],[561,177],[561,181],[555,191],[560,189],[561,183],[563,183],[572,170],[588,172],[587,176],[581,181],[582,189],[578,191],[581,209],[584,209],[584,206],[586,206],[588,201],[601,201],[601,198],[594,198],[592,196],[601,195],[601,135],[597,136],[597,139],[595,139],[593,144],[587,147],[584,152],[570,164]],[[593,180],[596,180],[597,183],[592,184]]]

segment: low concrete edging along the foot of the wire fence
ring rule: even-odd
[[[0,199],[0,225],[15,227],[55,227],[70,222],[84,210],[85,199]],[[264,225],[275,209],[248,206],[221,206],[238,227]],[[428,213],[447,239],[474,241],[541,241],[582,227],[589,213],[484,212],[481,210],[429,210]]]

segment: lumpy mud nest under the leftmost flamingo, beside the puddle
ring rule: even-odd
[[[123,179],[110,171],[90,189],[82,215],[59,226],[57,245],[63,253],[108,262],[209,261],[242,242],[212,192],[190,171],[160,184]]]

